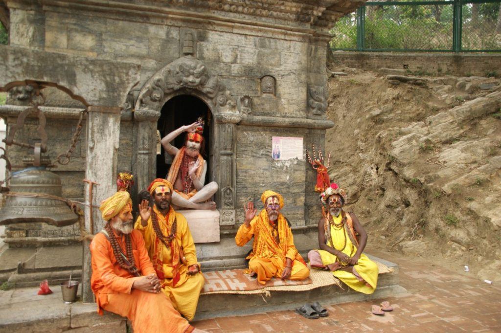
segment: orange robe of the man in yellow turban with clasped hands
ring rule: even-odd
[[[131,238],[136,267],[142,275],[155,273],[141,233],[133,230]],[[118,242],[122,251],[126,253],[123,235],[118,238]],[[132,322],[135,333],[193,331],[193,327],[174,309],[165,294],[132,288],[134,281],[143,277],[133,276],[120,267],[115,259],[111,243],[103,233],[100,232],[94,236],[90,250],[92,255],[91,288],[96,296],[99,314],[103,314],[103,309],[105,309],[127,317]]]

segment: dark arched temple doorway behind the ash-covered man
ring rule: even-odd
[[[189,96],[180,95],[168,100],[162,107],[160,118],[157,123],[157,130],[160,132],[160,138],[169,134],[173,130],[194,123],[198,117],[202,117],[205,121],[203,130],[205,153],[202,153],[203,159],[207,161],[207,175],[205,184],[210,178],[210,132],[211,132],[211,113],[209,107],[200,99]],[[176,148],[181,148],[184,144],[185,133],[180,134],[171,144]],[[158,150],[157,150],[158,153]],[[157,154],[156,159],[156,176],[158,178],[167,177],[172,158],[165,152],[163,147],[160,147],[160,154]]]

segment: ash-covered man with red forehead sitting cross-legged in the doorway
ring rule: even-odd
[[[172,205],[174,209],[216,209],[216,203],[210,198],[217,191],[217,183],[204,185],[207,162],[203,159],[204,139],[203,120],[199,118],[191,125],[181,126],[167,134],[160,143],[173,161],[166,179],[174,187]],[[170,142],[186,132],[184,146],[180,149]]]

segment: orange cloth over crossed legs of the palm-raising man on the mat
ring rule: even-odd
[[[284,261],[279,257],[252,258],[249,261],[249,269],[258,273],[258,282],[265,284],[272,277],[280,278],[284,272]],[[310,270],[299,260],[292,262],[291,280],[304,280],[310,275]]]

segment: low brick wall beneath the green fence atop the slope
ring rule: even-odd
[[[486,76],[501,72],[499,54],[333,52],[333,65],[375,71],[379,68],[406,69],[411,73],[454,76]]]

